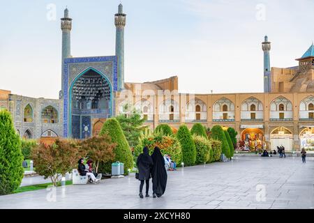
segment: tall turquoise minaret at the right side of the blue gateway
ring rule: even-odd
[[[118,91],[124,89],[124,26],[126,26],[126,14],[122,4],[119,4],[118,13],[114,15],[116,26],[116,56],[118,57]]]

